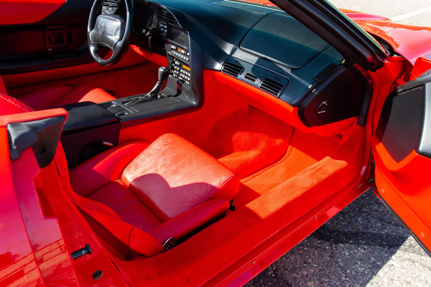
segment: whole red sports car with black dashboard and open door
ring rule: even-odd
[[[325,0],[0,7],[0,286],[242,285],[369,189],[431,254],[431,28]]]

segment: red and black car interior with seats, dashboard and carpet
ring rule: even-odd
[[[81,2],[0,27],[17,43],[0,47],[1,110],[66,109],[35,184],[62,191],[129,284],[208,282],[367,176],[373,79],[286,12]]]

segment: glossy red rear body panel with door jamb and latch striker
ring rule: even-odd
[[[126,286],[91,228],[61,192],[56,169],[64,164],[61,157],[40,169],[30,147],[19,159],[10,161],[6,133],[9,122],[53,116],[64,116],[66,120],[67,115],[64,109],[49,109],[0,117],[0,176],[4,195],[0,202],[0,230],[8,234],[0,237],[0,286],[80,286],[83,283]],[[62,153],[61,145],[57,153]],[[92,256],[72,262],[70,254],[86,243],[91,246]],[[97,269],[103,271],[103,276],[95,281],[93,272]]]

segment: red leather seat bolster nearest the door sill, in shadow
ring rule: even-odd
[[[149,234],[161,244],[164,244],[170,237],[178,240],[212,219],[222,216],[228,209],[229,203],[227,200],[220,198],[209,200],[169,219],[154,228]]]

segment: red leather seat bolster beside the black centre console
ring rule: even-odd
[[[126,166],[150,143],[132,140],[88,159],[69,172],[72,189],[84,197],[120,178]]]

